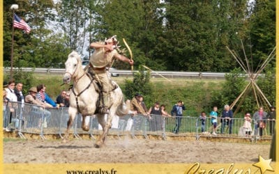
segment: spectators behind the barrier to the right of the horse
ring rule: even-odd
[[[158,101],[156,101],[153,106],[149,108],[149,111],[146,111],[146,106],[143,101],[143,96],[140,93],[136,93],[135,97],[130,105],[130,109],[135,111],[137,115],[142,115],[149,120],[149,131],[158,131],[163,128],[163,121],[166,117],[172,117],[175,119],[175,125],[173,129],[174,134],[179,134],[179,129],[181,127],[181,120],[183,120],[183,111],[186,110],[186,106],[184,103],[179,100],[172,107],[171,114],[168,114],[165,111],[165,105],[160,105]],[[255,129],[255,134],[258,134],[260,137],[263,136],[263,130],[266,128],[266,124],[269,124],[269,134],[272,135],[274,133],[275,122],[276,122],[276,108],[275,106],[271,106],[271,111],[269,113],[264,112],[264,108],[259,107],[259,111],[256,111],[252,116],[250,113],[246,113],[243,117],[243,121],[241,125],[241,129],[243,129],[244,136],[250,137],[252,134],[252,130]],[[202,134],[212,134],[213,136],[217,136],[218,134],[235,134],[234,125],[234,112],[230,109],[228,104],[225,104],[224,109],[222,111],[218,111],[217,106],[213,106],[212,111],[209,113],[209,116],[206,116],[206,112],[202,111],[199,116],[199,125]],[[135,117],[133,116],[133,117]],[[210,119],[211,127],[206,129],[206,120]],[[241,119],[241,118],[240,118]],[[252,127],[252,120],[255,120],[255,125]],[[236,122],[239,123],[239,122]],[[206,132],[208,130],[208,132]]]

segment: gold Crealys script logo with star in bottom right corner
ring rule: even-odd
[[[271,171],[274,172],[273,168],[271,167],[271,159],[264,159],[261,156],[259,156],[259,162],[252,164],[252,166],[255,166],[256,169],[251,169],[251,168],[236,168],[234,166],[234,163],[229,164],[229,166],[225,167],[225,168],[218,168],[218,169],[213,169],[213,168],[209,168],[209,169],[204,169],[202,168],[202,166],[199,163],[195,163],[192,166],[190,166],[190,168],[187,169],[187,171],[185,171],[184,174],[207,174],[207,173],[211,173],[211,174],[223,174],[223,173],[245,173],[245,174],[250,174],[250,173],[261,173],[264,174],[266,171]],[[254,171],[255,170],[255,171]]]

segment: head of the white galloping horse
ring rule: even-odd
[[[68,59],[65,63],[66,73],[63,77],[63,83],[69,84],[70,80],[77,77],[77,74],[82,69],[82,61],[80,55],[73,51],[69,54]]]

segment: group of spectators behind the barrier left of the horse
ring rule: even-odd
[[[15,84],[15,80],[3,82],[3,129],[10,132],[14,113],[19,109],[19,104],[33,104],[33,113],[43,114],[43,120],[38,122],[38,126],[43,124],[47,127],[47,122],[51,118],[51,112],[47,108],[59,108],[69,106],[70,91],[62,90],[61,94],[56,97],[56,102],[45,92],[45,84],[39,84],[29,89],[28,94],[22,93],[23,85],[21,82]],[[9,112],[9,113],[8,113]]]

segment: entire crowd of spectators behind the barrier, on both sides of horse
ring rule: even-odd
[[[15,84],[14,80],[8,81],[8,84],[3,84],[3,127],[9,132],[9,125],[13,119],[13,113],[16,112],[17,106],[15,103],[29,103],[36,105],[33,107],[35,113],[42,113],[44,116],[43,120],[40,120],[39,124],[44,124],[47,127],[47,122],[51,118],[51,112],[47,111],[47,108],[68,107],[69,106],[69,96],[70,91],[61,90],[61,93],[56,97],[56,100],[46,93],[46,86],[44,84],[39,84],[38,86],[33,86],[29,89],[28,94],[24,95],[22,93],[22,88],[24,84],[18,82]],[[186,110],[184,103],[179,100],[174,106],[170,114],[165,110],[165,105],[160,102],[154,102],[153,106],[147,109],[144,103],[144,97],[140,93],[136,93],[135,97],[130,102],[130,110],[133,111],[132,118],[134,123],[136,116],[142,115],[149,120],[149,131],[155,132],[161,130],[164,126],[163,120],[165,118],[174,118],[175,125],[172,130],[174,134],[179,134],[179,129],[181,127],[181,120],[183,118],[183,111]],[[9,113],[8,113],[9,112]],[[223,111],[218,111],[217,106],[213,106],[212,111],[209,113],[209,117],[206,116],[206,112],[202,111],[199,116],[199,124],[202,133],[210,133],[213,136],[217,134],[226,134],[228,129],[228,134],[232,134],[234,125],[234,113],[230,109],[229,105],[225,105]],[[209,132],[206,132],[206,120],[210,119],[211,127],[209,127]],[[255,127],[252,127],[252,120],[255,120]],[[253,115],[246,113],[243,117],[243,132],[245,136],[250,137],[252,134],[252,129],[255,129],[255,134],[259,136],[263,135],[263,131],[266,125],[269,124],[269,134],[273,134],[276,123],[276,107],[271,106],[270,111],[266,113],[264,107],[259,107]],[[38,125],[40,126],[40,125]],[[217,129],[220,128],[220,132]]]

